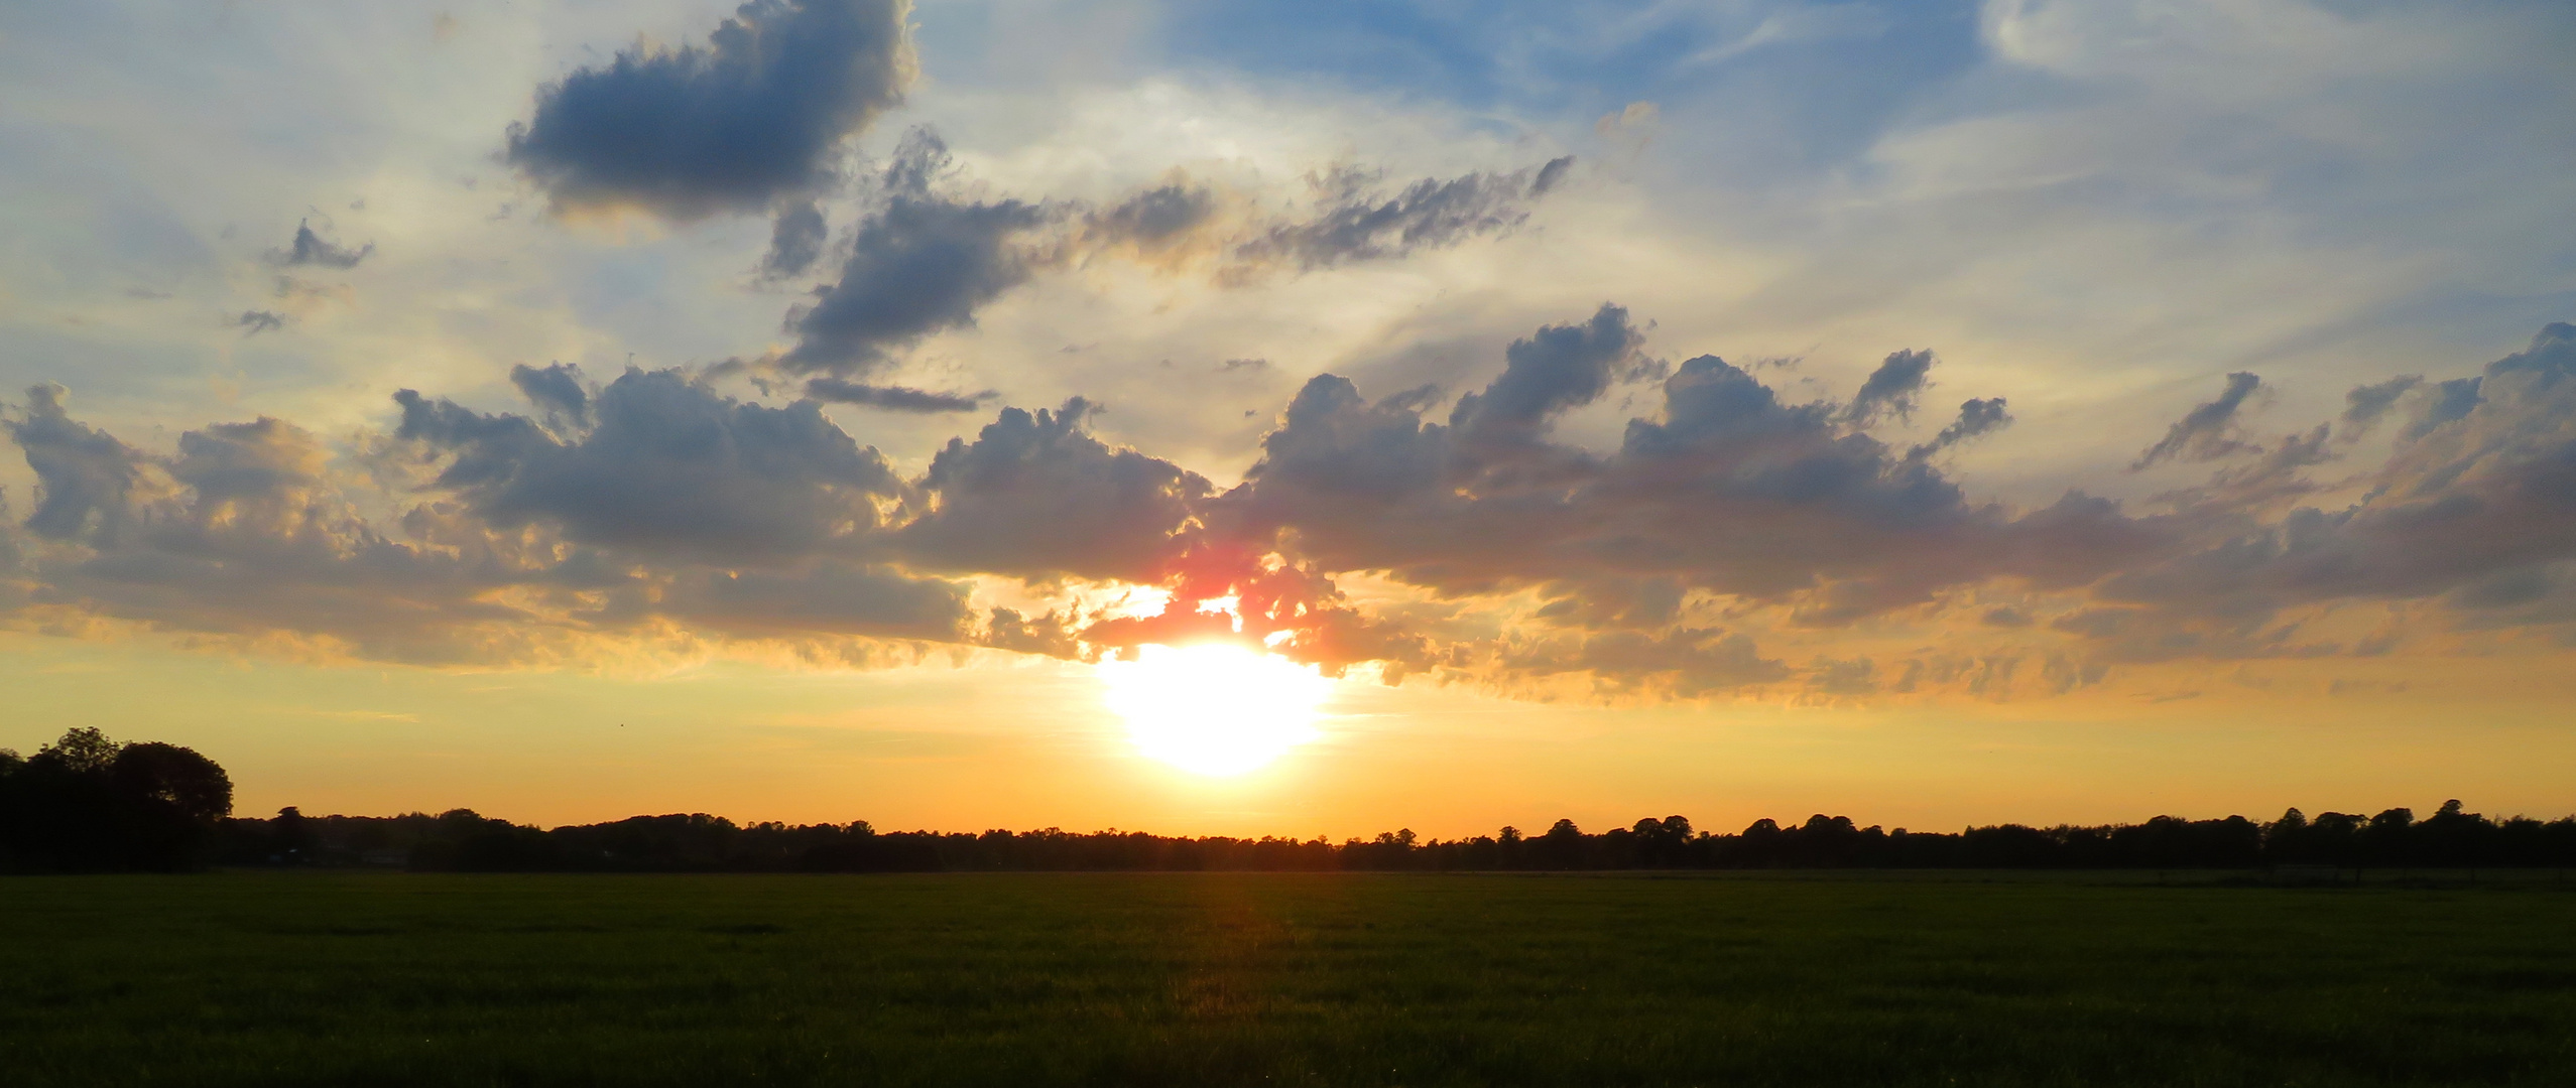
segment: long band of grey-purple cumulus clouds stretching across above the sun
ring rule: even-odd
[[[1971,499],[1927,450],[2004,427],[2004,399],[1886,445],[1865,419],[1932,365],[1893,360],[1880,409],[1795,401],[1718,355],[1667,368],[1602,306],[1512,342],[1437,419],[1419,391],[1370,401],[1316,376],[1226,491],[1090,432],[1084,399],[1002,409],[902,478],[814,399],[739,401],[677,370],[592,386],[518,365],[526,414],[404,391],[399,430],[350,453],[278,419],[144,453],[39,386],[5,422],[39,494],[0,530],[0,612],[407,661],[603,635],[1054,656],[1236,640],[1600,697],[2045,694],[2136,661],[2385,653],[2424,622],[2576,625],[2576,327],[2473,378],[2365,386],[2342,419],[2272,437],[2236,419],[2259,378],[2231,378],[2159,442],[2169,460],[2226,442],[2223,463],[2154,514]],[[1651,404],[1615,448],[1556,435],[1641,383]],[[2385,463],[2306,478],[2349,455],[2336,427],[2409,404]],[[361,514],[368,481],[392,484],[371,502],[397,517]],[[989,579],[1051,604],[976,602]],[[1082,604],[1121,584],[1170,607]],[[2357,602],[2406,610],[2318,622]],[[1919,648],[1852,653],[1855,625]]]

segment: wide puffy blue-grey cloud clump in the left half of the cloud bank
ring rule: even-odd
[[[487,525],[714,563],[778,563],[855,543],[902,481],[814,401],[734,401],[677,370],[626,370],[595,427],[559,440],[526,417],[477,414],[415,391],[404,440],[446,458],[438,486]]]

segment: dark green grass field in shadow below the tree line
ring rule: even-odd
[[[2576,1083],[2576,893],[0,880],[0,1083]]]

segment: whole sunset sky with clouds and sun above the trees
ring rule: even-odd
[[[2571,54],[0,5],[0,746],[528,823],[2563,815]]]

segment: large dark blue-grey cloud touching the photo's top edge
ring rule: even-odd
[[[507,159],[556,208],[670,219],[757,211],[827,185],[842,141],[904,98],[907,0],[755,0],[703,46],[623,49],[536,93]]]

